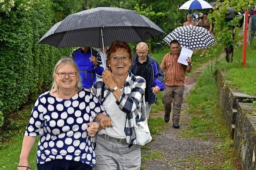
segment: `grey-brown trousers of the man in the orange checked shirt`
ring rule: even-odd
[[[170,115],[172,109],[172,122],[180,121],[180,110],[183,101],[184,86],[165,86],[162,102],[164,104],[164,113]]]

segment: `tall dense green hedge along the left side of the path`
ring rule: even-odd
[[[63,18],[58,11],[73,12],[73,3],[71,0],[0,2],[3,9],[0,12],[0,127],[3,117],[32,98],[30,94],[37,96],[50,89],[56,61],[68,56],[70,50],[36,43],[56,18]]]

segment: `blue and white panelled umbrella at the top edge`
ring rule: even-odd
[[[199,10],[212,8],[211,4],[204,0],[189,0],[180,6],[179,10]]]

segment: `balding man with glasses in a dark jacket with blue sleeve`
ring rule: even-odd
[[[135,76],[141,76],[146,80],[145,102],[146,116],[148,118],[151,104],[157,102],[156,95],[159,91],[164,90],[164,73],[158,62],[148,54],[148,45],[146,43],[138,43],[136,51],[137,53],[132,57],[130,71]],[[145,115],[142,114],[142,116]]]

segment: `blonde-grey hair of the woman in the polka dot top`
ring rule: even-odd
[[[77,77],[77,82],[76,82],[76,91],[79,92],[80,90],[82,90],[82,85],[81,85],[81,77],[80,77],[80,74],[79,74],[79,70],[78,70],[78,67],[75,63],[75,61],[71,58],[68,58],[68,57],[64,57],[62,59],[60,59],[57,64],[55,65],[54,67],[54,70],[53,70],[53,82],[52,82],[52,92],[58,92],[59,90],[59,86],[55,80],[55,76],[58,72],[58,70],[60,69],[61,66],[65,65],[65,64],[71,64],[75,70],[76,70],[76,77]]]

